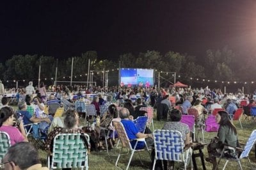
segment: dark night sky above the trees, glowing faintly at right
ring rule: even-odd
[[[168,50],[256,53],[256,1],[1,1],[0,61],[15,54],[100,58]]]

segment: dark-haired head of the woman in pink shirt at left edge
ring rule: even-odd
[[[13,125],[13,120],[15,112],[13,111],[12,107],[2,107],[0,109],[0,127],[3,125],[3,123],[6,123],[7,125]]]

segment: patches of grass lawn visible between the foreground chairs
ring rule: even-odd
[[[83,122],[83,121],[84,120],[81,120],[81,122]],[[234,124],[236,125],[237,131],[239,134],[239,141],[241,143],[246,143],[252,130],[255,129],[254,128],[255,123],[253,121],[244,121],[242,123],[243,123],[243,129],[241,129],[238,121],[234,121]],[[161,129],[163,127],[163,124],[164,124],[164,121],[154,120],[154,128],[155,129]],[[216,135],[216,133],[214,133],[214,132],[205,133],[205,142],[209,143],[211,138],[214,137],[215,135]],[[117,151],[117,149],[114,151]],[[112,151],[112,152],[114,152],[114,151]],[[47,166],[46,152],[43,150],[39,150],[39,153],[42,158],[42,164],[44,164],[44,166]],[[205,154],[205,157],[207,157],[206,147],[204,148],[204,154]],[[124,169],[127,166],[127,163],[129,161],[129,155],[121,156],[121,158],[118,162],[118,166],[121,167],[122,169]],[[144,166],[140,164],[138,154],[134,154],[134,157],[132,158],[132,162],[130,164],[130,169],[150,169],[151,160],[150,160],[148,153],[145,151],[141,155],[143,157],[142,160],[143,160]],[[89,169],[115,169],[116,157],[117,156],[109,156],[106,151],[100,151],[100,152],[92,151],[89,155]],[[256,159],[254,157],[254,149],[250,153],[250,160],[251,160],[251,163],[248,162],[248,159],[243,159],[241,161],[243,169],[255,169]],[[199,158],[196,160],[196,162],[198,165],[198,169],[202,169],[202,165],[200,163]],[[224,160],[221,161],[221,164],[219,166],[220,169],[221,169],[221,167],[223,167],[223,163],[225,163]],[[206,164],[207,169],[212,169],[211,164],[209,164],[208,162],[205,162],[205,164]],[[175,167],[177,167],[177,164]],[[237,162],[228,162],[226,169],[238,169]]]

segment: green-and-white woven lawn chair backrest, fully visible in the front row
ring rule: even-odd
[[[88,149],[85,141],[89,135],[58,134],[54,137],[52,157],[48,156],[49,169],[81,168],[88,169]]]

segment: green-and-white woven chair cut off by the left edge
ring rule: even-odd
[[[3,158],[8,148],[11,146],[10,137],[6,132],[0,132],[0,162],[3,162]]]

